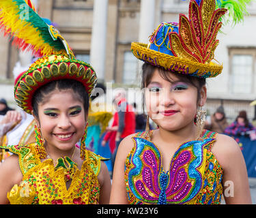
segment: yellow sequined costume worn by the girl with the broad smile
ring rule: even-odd
[[[98,204],[100,185],[98,174],[100,160],[104,158],[86,150],[81,170],[68,157],[58,159],[54,167],[52,159],[41,162],[35,151],[35,143],[8,146],[18,155],[23,181],[8,192],[11,204]],[[71,173],[70,173],[71,172]],[[72,174],[70,187],[66,188],[66,177]]]

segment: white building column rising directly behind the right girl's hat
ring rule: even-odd
[[[141,12],[139,21],[139,42],[148,43],[148,37],[154,31],[155,0],[141,0]]]

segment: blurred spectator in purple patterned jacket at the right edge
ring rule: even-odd
[[[231,123],[226,129],[225,134],[233,136],[250,136],[248,131],[256,130],[256,128],[248,121],[247,113],[245,110],[241,110],[236,117],[236,121]]]

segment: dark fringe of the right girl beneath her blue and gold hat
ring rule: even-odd
[[[187,82],[188,84],[192,84],[194,87],[197,88],[197,103],[200,99],[200,91],[201,88],[206,84],[205,78],[197,78],[195,76],[188,76],[184,74],[179,74],[178,72],[170,72],[166,69],[163,69],[161,67],[155,67],[154,65],[151,65],[149,63],[143,63],[142,65],[142,80],[141,80],[141,87],[145,88],[148,84],[150,84],[150,81],[152,79],[152,76],[155,72],[155,70],[158,69],[158,72],[160,76],[169,82],[173,82],[171,79],[171,74],[175,74],[177,78],[179,78],[183,82]],[[143,97],[143,105],[145,105]]]

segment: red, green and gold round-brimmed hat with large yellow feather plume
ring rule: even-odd
[[[24,4],[29,5],[27,19],[20,15]],[[75,59],[66,40],[53,25],[47,25],[38,16],[30,0],[1,0],[0,29],[5,36],[14,37],[14,43],[21,50],[31,50],[40,57],[14,86],[14,99],[25,112],[31,114],[33,93],[53,80],[78,80],[91,95],[97,82],[94,69],[88,63]]]

